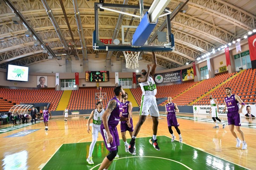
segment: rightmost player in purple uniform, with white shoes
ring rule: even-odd
[[[225,101],[225,107],[223,109],[223,112],[228,110],[228,127],[232,135],[236,138],[236,147],[239,148],[240,144],[242,143],[242,149],[247,149],[247,144],[244,139],[244,133],[241,130],[241,122],[240,122],[240,113],[242,113],[242,110],[245,106],[244,102],[240,99],[239,96],[235,94],[231,94],[231,88],[226,87],[225,88],[227,97],[224,98]],[[239,109],[239,103],[241,104],[241,108]],[[240,134],[241,140],[237,137],[236,132],[234,131],[234,126],[236,126],[236,130]]]

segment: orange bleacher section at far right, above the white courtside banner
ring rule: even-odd
[[[224,97],[226,96],[225,88],[230,87],[232,94],[238,95],[245,104],[256,104],[256,69],[248,69],[243,73],[233,78],[226,84],[214,90],[211,94],[219,104],[224,104]],[[196,105],[210,104],[209,96],[194,103]]]

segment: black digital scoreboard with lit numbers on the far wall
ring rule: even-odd
[[[87,82],[109,81],[109,71],[85,71],[85,81]]]

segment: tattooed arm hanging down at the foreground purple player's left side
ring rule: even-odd
[[[116,108],[116,100],[110,100],[108,102],[108,107],[105,110],[105,112],[102,115],[102,122],[103,125],[107,131],[107,135],[108,135],[108,143],[112,143],[113,142],[113,136],[110,134],[109,128],[108,128],[108,116],[111,114],[111,112]]]

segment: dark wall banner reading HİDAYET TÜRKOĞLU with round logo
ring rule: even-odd
[[[154,75],[154,79],[157,85],[181,82],[180,70],[166,73],[157,73]]]

